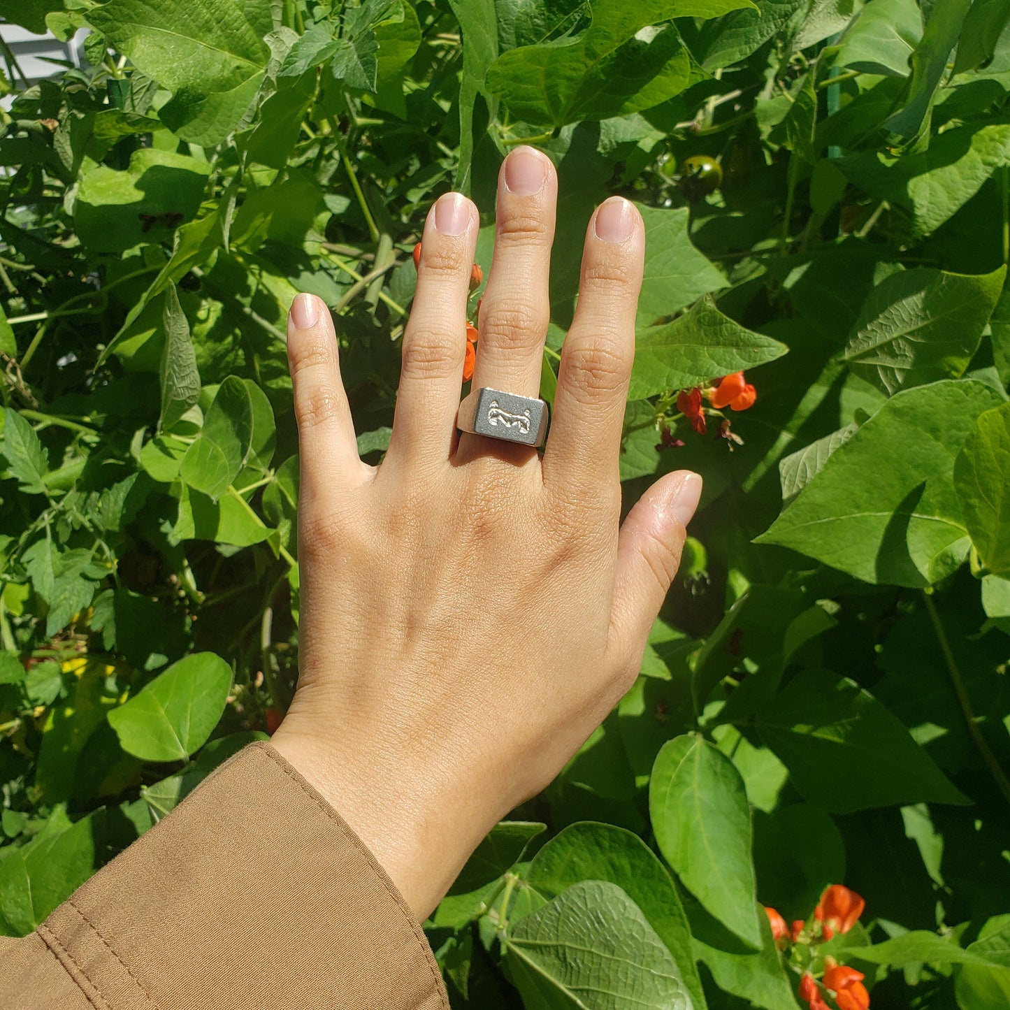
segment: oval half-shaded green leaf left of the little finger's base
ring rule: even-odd
[[[207,411],[203,430],[186,450],[179,476],[212,501],[245,466],[252,443],[252,400],[241,379],[228,376]]]

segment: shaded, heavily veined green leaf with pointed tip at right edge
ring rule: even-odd
[[[1003,289],[1006,267],[983,277],[939,270],[892,274],[870,293],[845,361],[888,394],[968,368]]]

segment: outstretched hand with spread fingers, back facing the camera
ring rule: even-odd
[[[537,395],[557,196],[545,156],[505,160],[474,389]],[[359,459],[319,299],[296,299],[288,331],[300,677],[273,741],[422,920],[633,683],[701,493],[668,474],[620,524],[644,229],[619,197],[589,225],[542,458],[457,431],[478,227],[460,194],[428,214],[380,467]]]

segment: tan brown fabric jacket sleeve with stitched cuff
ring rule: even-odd
[[[417,921],[269,743],[221,766],[36,932],[5,1010],[447,1010]]]

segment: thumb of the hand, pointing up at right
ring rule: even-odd
[[[690,470],[653,484],[621,524],[610,625],[618,655],[644,647],[681,564],[687,524],[698,508],[702,480]]]

